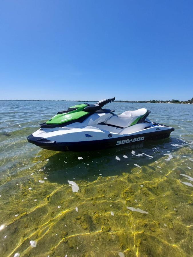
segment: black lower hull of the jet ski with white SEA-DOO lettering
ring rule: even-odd
[[[57,143],[46,140],[45,138],[34,137],[32,134],[28,136],[28,141],[46,150],[53,150],[59,152],[81,152],[88,150],[98,150],[112,147],[120,147],[126,145],[133,145],[136,143],[142,143],[147,140],[157,140],[162,138],[167,138],[170,136],[171,131],[174,128],[167,130],[156,131],[151,133],[142,133],[136,136],[124,136],[121,138],[109,138],[104,140],[87,141],[87,142],[67,142],[67,143]]]

